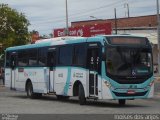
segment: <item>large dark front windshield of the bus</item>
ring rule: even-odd
[[[114,76],[145,76],[152,72],[152,56],[149,48],[107,46],[106,71]]]

